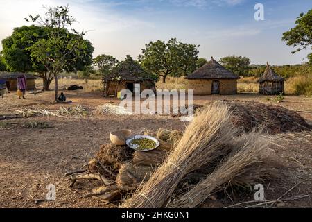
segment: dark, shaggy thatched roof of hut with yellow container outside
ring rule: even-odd
[[[105,76],[103,80],[130,80],[141,82],[144,80],[157,80],[157,76],[149,74],[138,62],[133,60],[131,56],[127,56],[124,61],[119,62],[111,72]]]

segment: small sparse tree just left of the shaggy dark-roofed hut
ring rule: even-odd
[[[116,67],[116,65],[118,65],[119,63],[119,61],[116,58],[114,58],[114,56],[105,54],[96,56],[93,62],[94,65],[98,67],[98,71],[102,76],[107,76],[108,74],[110,74],[112,69],[114,69],[114,67]]]

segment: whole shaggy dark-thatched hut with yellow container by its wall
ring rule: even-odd
[[[138,62],[131,56],[127,56],[124,61],[119,62],[110,74],[103,78],[105,96],[117,96],[122,89],[129,89],[134,92],[139,89],[152,89],[156,92],[155,81],[157,76],[146,72]]]

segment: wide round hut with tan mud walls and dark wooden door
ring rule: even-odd
[[[214,58],[186,77],[188,89],[195,95],[236,94],[237,79],[240,77],[225,69]]]

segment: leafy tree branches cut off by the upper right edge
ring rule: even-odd
[[[286,41],[288,46],[297,47],[292,53],[308,49],[312,45],[312,9],[306,14],[301,13],[295,21],[295,28],[283,33],[281,40]],[[312,64],[312,53],[308,56]]]

